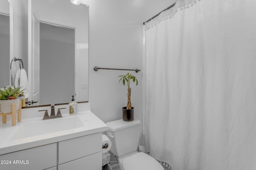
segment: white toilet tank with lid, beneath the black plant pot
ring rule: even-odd
[[[137,150],[140,138],[140,120],[123,121],[122,119],[106,123],[107,136],[112,143],[110,151],[115,156],[122,156]]]

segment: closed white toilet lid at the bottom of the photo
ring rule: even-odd
[[[164,170],[157,160],[143,152],[124,158],[122,166],[124,170]]]

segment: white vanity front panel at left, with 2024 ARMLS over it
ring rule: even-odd
[[[57,144],[0,155],[0,170],[42,170],[57,164]],[[6,161],[11,161],[6,164]],[[2,163],[2,162],[0,162]]]

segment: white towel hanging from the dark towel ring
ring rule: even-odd
[[[26,98],[28,98],[29,96],[29,89],[28,89],[28,77],[27,77],[27,73],[26,70],[22,69],[18,69],[18,71],[16,72],[16,76],[15,76],[15,81],[14,81],[14,85],[15,87],[21,87],[20,90],[24,90],[24,96]]]

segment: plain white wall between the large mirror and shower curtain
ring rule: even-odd
[[[102,121],[122,119],[127,86],[118,76],[128,71],[93,70],[94,66],[142,70],[142,22],[174,3],[174,0],[83,0],[89,5],[89,102]],[[130,72],[130,71],[129,71]],[[131,72],[135,118],[142,121],[142,71]]]

